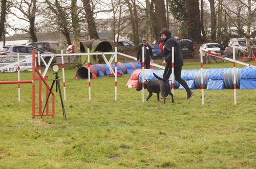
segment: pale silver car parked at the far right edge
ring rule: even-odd
[[[251,49],[256,49],[256,46],[252,43],[250,40]],[[232,38],[228,41],[228,48],[232,55],[233,53],[233,46],[236,55],[239,55],[239,57],[242,57],[244,52],[247,54],[247,46],[246,46],[246,39],[245,38]]]

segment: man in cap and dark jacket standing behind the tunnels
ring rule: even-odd
[[[144,47],[144,63],[145,63],[145,69],[150,69],[150,63],[153,62],[153,52],[152,47],[147,44],[147,39],[142,39],[142,44],[139,45],[138,52],[137,52],[137,61],[140,62],[141,68],[142,68],[142,47]]]

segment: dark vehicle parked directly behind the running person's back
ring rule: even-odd
[[[181,50],[182,56],[184,58],[186,57],[193,58],[194,52],[195,52],[194,41],[190,38],[177,39],[177,41],[180,44],[180,50]]]

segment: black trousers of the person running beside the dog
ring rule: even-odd
[[[174,67],[174,77],[175,77],[175,80],[178,81],[180,83],[180,85],[182,85],[184,87],[186,92],[189,93],[191,91],[190,91],[186,81],[181,78],[181,69],[182,69],[182,66]],[[165,69],[164,69],[163,78],[168,80],[170,77],[170,74],[172,74],[172,63],[170,63],[170,64],[167,63],[165,66]]]

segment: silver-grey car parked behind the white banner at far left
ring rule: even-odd
[[[13,55],[17,55],[18,53],[20,55],[31,55],[33,50],[35,50],[36,53],[39,51],[40,54],[45,54],[43,56],[43,58],[46,63],[48,63],[51,59],[50,54],[54,54],[52,52],[42,51],[42,50],[37,49],[31,45],[8,45],[8,46],[3,46],[3,48],[0,49],[0,57],[1,57],[1,55],[13,56]],[[46,54],[49,54],[49,55],[46,55]],[[56,63],[56,57],[53,58],[52,63]]]

